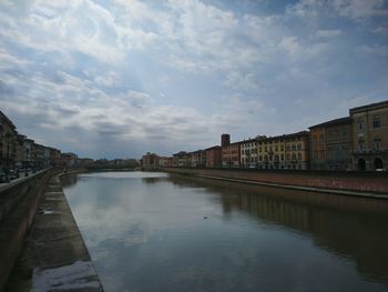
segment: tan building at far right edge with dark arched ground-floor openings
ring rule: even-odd
[[[349,110],[354,170],[388,169],[388,101]]]

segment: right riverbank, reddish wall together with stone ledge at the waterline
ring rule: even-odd
[[[244,171],[227,169],[164,169],[169,173],[263,187],[364,198],[388,199],[386,173],[333,173],[304,171]]]

